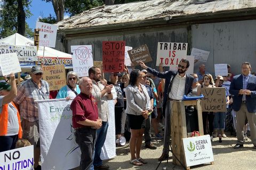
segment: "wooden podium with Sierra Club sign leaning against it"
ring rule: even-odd
[[[186,166],[185,152],[183,149],[182,138],[187,138],[187,126],[186,126],[186,114],[185,106],[194,106],[197,108],[198,114],[198,128],[200,135],[204,134],[203,130],[203,118],[202,118],[202,107],[201,100],[185,100],[185,101],[171,101],[171,135],[172,135],[172,151],[173,154],[180,160],[172,156],[173,164],[184,166],[187,169],[190,167]]]

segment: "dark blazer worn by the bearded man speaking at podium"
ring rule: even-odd
[[[158,78],[165,79],[165,86],[164,86],[164,100],[163,100],[163,108],[166,106],[166,102],[168,99],[169,92],[172,87],[172,80],[174,79],[175,75],[178,72],[174,71],[166,71],[166,72],[158,72],[154,69],[151,69],[148,67],[147,71],[153,75],[155,75]],[[190,96],[192,94],[192,83],[193,83],[194,77],[192,75],[189,75],[186,73],[186,85],[185,85],[185,95]],[[169,88],[170,85],[170,88]]]

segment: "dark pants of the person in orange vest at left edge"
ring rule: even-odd
[[[18,134],[12,136],[0,136],[0,152],[15,149]]]

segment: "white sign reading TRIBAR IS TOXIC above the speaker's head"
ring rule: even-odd
[[[187,57],[187,43],[162,43],[158,42],[156,65],[170,66],[170,70],[178,69],[178,64]]]

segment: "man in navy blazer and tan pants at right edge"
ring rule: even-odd
[[[242,131],[244,129],[245,118],[250,124],[251,140],[256,148],[256,77],[251,74],[251,64],[244,62],[242,64],[242,74],[236,75],[231,81],[229,93],[233,97],[233,109],[236,112],[237,119],[237,144],[235,149],[242,148],[244,145],[244,137]]]

